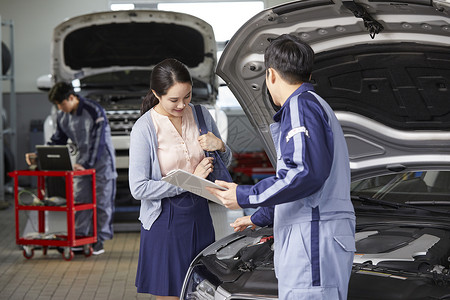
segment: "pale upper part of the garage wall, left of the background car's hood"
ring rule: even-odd
[[[50,72],[50,41],[53,28],[64,19],[107,10],[108,0],[1,0],[2,20],[14,22],[16,91],[35,92],[36,79]],[[3,41],[9,41],[3,28]],[[4,90],[9,86],[4,84]]]

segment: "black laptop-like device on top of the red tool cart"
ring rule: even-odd
[[[39,170],[72,171],[69,148],[64,146],[36,146]]]

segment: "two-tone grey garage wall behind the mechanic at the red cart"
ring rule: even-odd
[[[17,111],[16,169],[26,168],[24,155],[32,148],[30,126],[43,122],[51,105],[36,79],[50,72],[50,41],[53,28],[65,18],[108,9],[108,0],[0,0],[2,21],[14,23],[14,62]],[[8,46],[9,27],[2,26],[2,41]],[[9,81],[3,81],[3,106],[9,111]]]

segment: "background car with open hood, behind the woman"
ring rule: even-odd
[[[226,140],[228,119],[216,105],[216,40],[204,20],[171,11],[106,11],[76,16],[54,28],[51,74],[40,77],[38,87],[72,82],[79,95],[106,110],[119,175],[116,205],[139,205],[128,188],[129,134],[149,90],[151,70],[165,58],[187,65],[194,82],[192,103],[208,107]],[[53,108],[46,119],[46,140],[56,126],[55,113]]]

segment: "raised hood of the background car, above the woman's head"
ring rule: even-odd
[[[53,80],[121,70],[151,70],[165,58],[185,63],[217,93],[216,42],[205,21],[153,10],[108,11],[68,19],[53,32]]]

